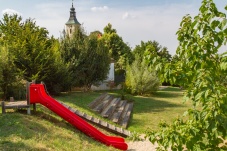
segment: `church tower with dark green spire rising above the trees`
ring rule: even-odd
[[[66,35],[71,37],[75,29],[80,27],[80,25],[81,24],[78,22],[76,18],[76,11],[75,11],[75,8],[73,7],[73,1],[72,1],[72,7],[70,9],[70,17],[69,17],[69,20],[65,23]]]

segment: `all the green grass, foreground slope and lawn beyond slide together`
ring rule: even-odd
[[[89,115],[101,118],[87,105],[104,92],[64,93],[55,98]],[[120,96],[120,91],[109,93]],[[190,106],[190,103],[182,103],[182,97],[183,92],[178,88],[167,88],[148,97],[126,95],[126,98],[134,100],[133,116],[128,129],[144,133],[148,128],[158,129],[160,120],[171,122]],[[0,150],[116,150],[84,135],[45,107],[38,105],[37,110],[32,115],[27,115],[26,111],[13,110],[4,115],[0,114]]]

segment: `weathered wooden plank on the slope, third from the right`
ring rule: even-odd
[[[113,114],[115,109],[117,108],[118,103],[120,102],[120,98],[114,98],[109,105],[106,106],[106,108],[102,111],[101,116],[108,118]]]

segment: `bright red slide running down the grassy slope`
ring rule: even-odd
[[[43,84],[31,84],[30,85],[30,103],[40,103],[46,106],[48,109],[58,114],[74,127],[92,137],[93,139],[102,142],[108,146],[113,146],[120,150],[127,150],[128,145],[125,143],[124,138],[112,137],[103,134],[95,127],[84,121],[82,118],[71,112],[69,109],[61,105],[55,99],[50,97],[45,90]]]

